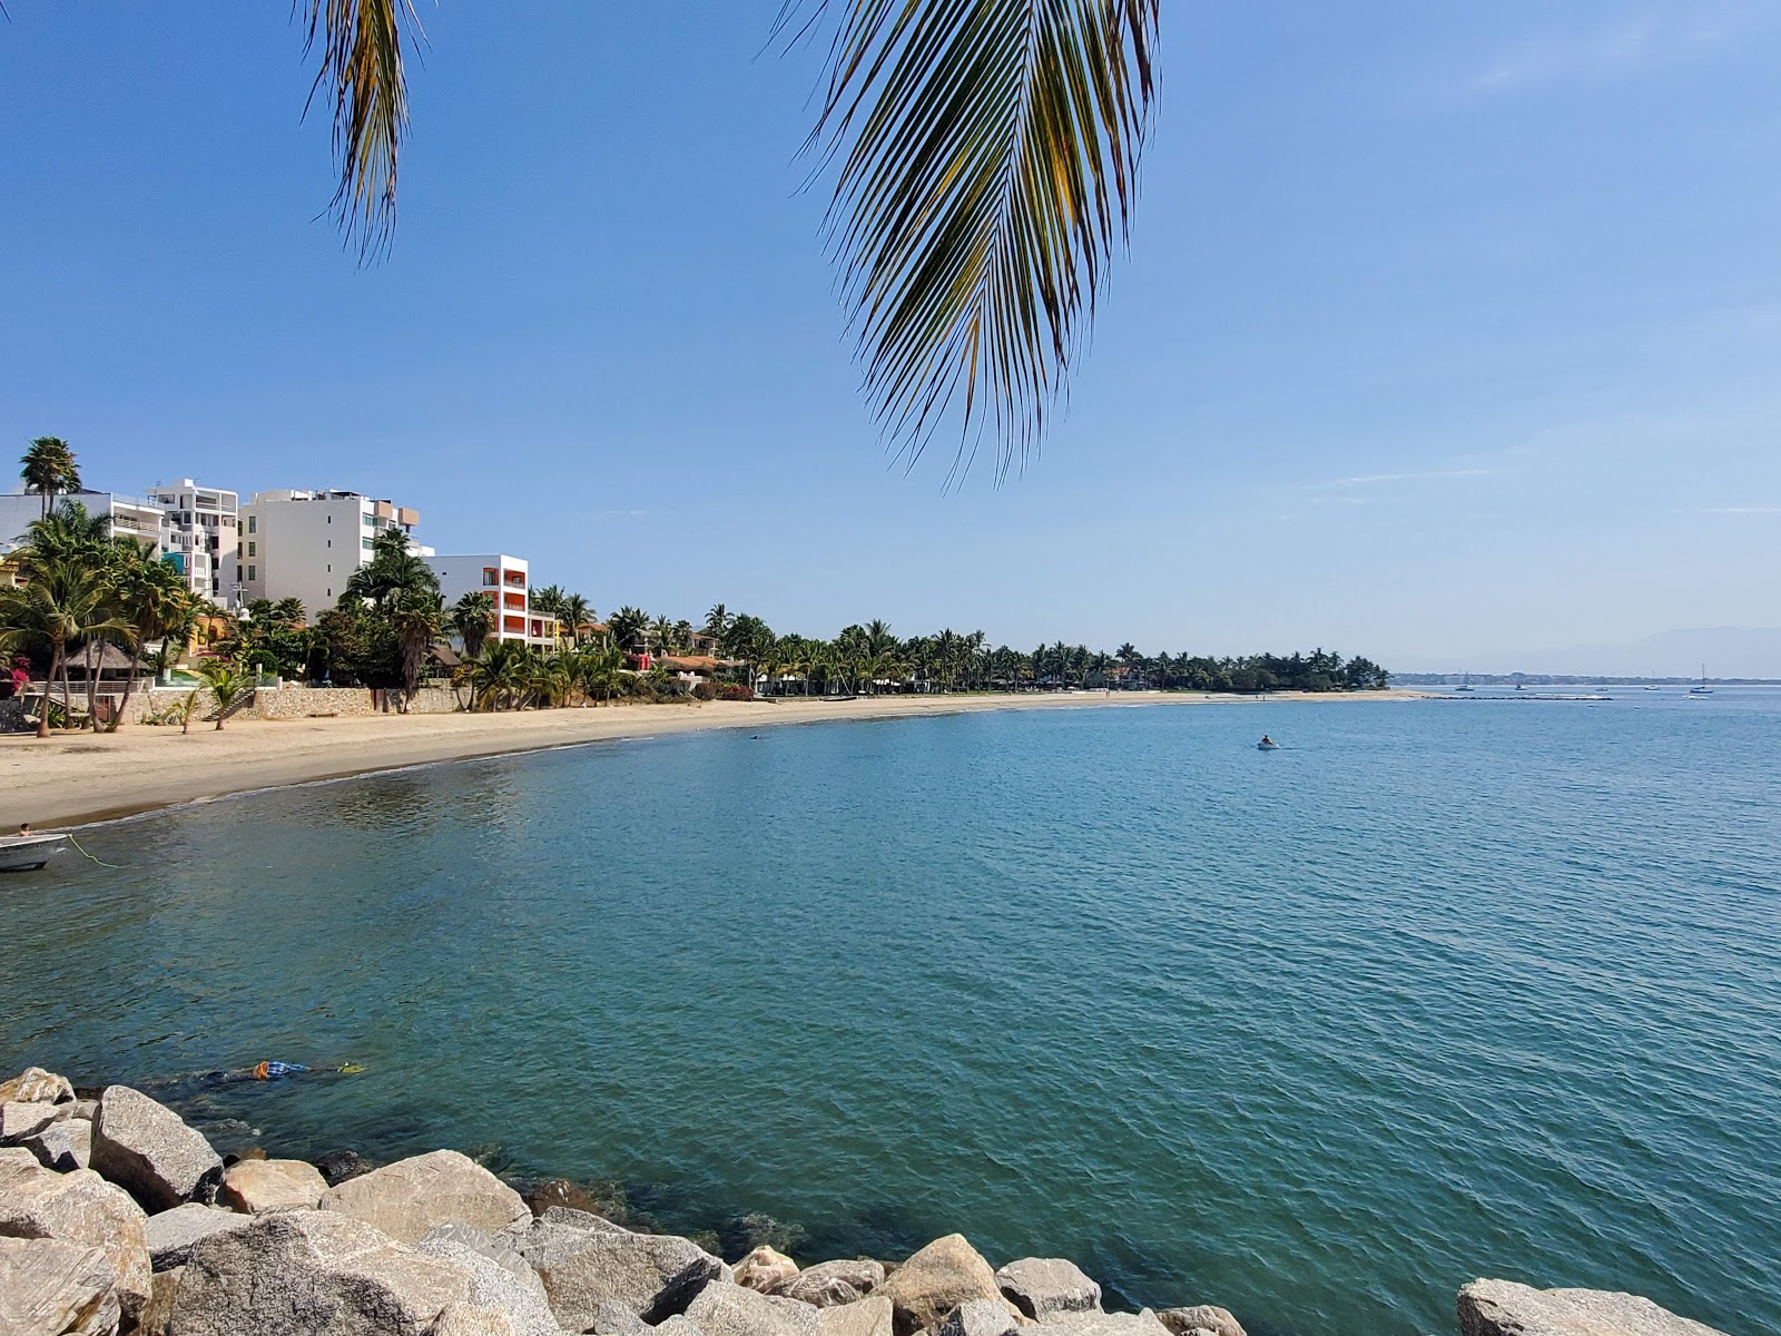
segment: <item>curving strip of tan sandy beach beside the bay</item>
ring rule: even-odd
[[[178,729],[125,725],[116,734],[0,737],[0,828],[37,830],[116,821],[196,802],[413,766],[547,752],[588,743],[762,725],[969,714],[1008,709],[1129,709],[1138,705],[1263,705],[1427,700],[1423,691],[1275,693],[1183,691],[780,697],[759,702],[597,705],[499,714],[372,714],[335,720],[233,720]]]

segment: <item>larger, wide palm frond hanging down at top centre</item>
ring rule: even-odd
[[[1127,235],[1158,21],[1159,0],[848,0],[809,148],[839,164],[842,301],[910,463],[949,410],[955,477],[985,429],[997,479],[1038,447]]]

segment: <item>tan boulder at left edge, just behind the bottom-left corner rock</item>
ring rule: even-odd
[[[0,1234],[98,1249],[123,1316],[134,1320],[153,1281],[142,1210],[91,1169],[57,1174],[32,1160],[0,1161]]]

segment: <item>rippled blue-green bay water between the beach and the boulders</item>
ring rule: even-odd
[[[9,880],[0,1067],[1250,1332],[1781,1331],[1781,695],[996,713],[415,770]],[[1266,729],[1288,745],[1259,754]]]

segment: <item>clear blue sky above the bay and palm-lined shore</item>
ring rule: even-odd
[[[1069,410],[953,493],[858,399],[777,0],[422,4],[374,269],[289,5],[7,9],[0,440],[93,485],[349,486],[805,634],[1485,670],[1781,625],[1781,7],[1167,0]]]

